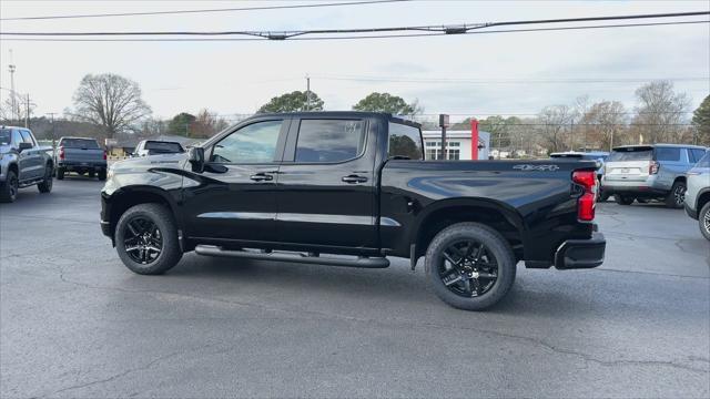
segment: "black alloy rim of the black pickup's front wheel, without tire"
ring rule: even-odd
[[[123,250],[131,260],[149,265],[155,262],[163,250],[163,235],[153,221],[135,216],[125,224],[123,244]]]

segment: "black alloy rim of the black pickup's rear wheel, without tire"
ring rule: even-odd
[[[442,253],[438,274],[452,293],[466,298],[484,295],[498,279],[498,262],[481,243],[462,239]]]

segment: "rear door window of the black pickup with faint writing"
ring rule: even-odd
[[[365,123],[344,120],[302,120],[296,162],[343,162],[357,157],[365,145]]]

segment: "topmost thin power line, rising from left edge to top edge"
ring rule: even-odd
[[[318,7],[341,7],[341,6],[367,6],[389,2],[403,2],[412,0],[371,0],[371,1],[348,1],[336,3],[317,3],[317,4],[293,4],[293,6],[262,6],[262,7],[239,7],[239,8],[220,8],[220,9],[199,9],[199,10],[170,10],[170,11],[144,11],[144,12],[114,12],[102,14],[72,14],[72,16],[41,16],[41,17],[13,17],[0,18],[0,21],[27,21],[27,20],[51,20],[51,19],[77,19],[77,18],[105,18],[105,17],[140,17],[140,16],[169,16],[185,13],[207,13],[207,12],[234,12],[234,11],[257,11],[257,10],[284,10],[301,8],[318,8]]]

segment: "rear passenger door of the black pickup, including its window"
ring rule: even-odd
[[[304,246],[377,247],[373,121],[294,119],[278,172],[278,239]]]

